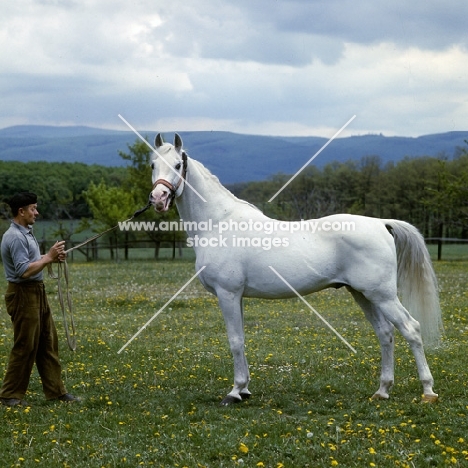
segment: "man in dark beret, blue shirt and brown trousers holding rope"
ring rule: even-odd
[[[65,259],[65,242],[56,242],[41,256],[31,230],[39,215],[36,194],[17,193],[8,204],[13,221],[3,235],[1,251],[8,280],[5,303],[13,323],[14,344],[0,388],[0,402],[6,406],[28,405],[23,397],[34,362],[47,400],[78,401],[67,393],[62,382],[57,331],[42,281],[42,270],[48,264]]]

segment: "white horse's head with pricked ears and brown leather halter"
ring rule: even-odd
[[[165,143],[160,133],[154,140],[155,155],[151,162],[153,190],[150,202],[158,212],[167,211],[175,198],[182,194],[187,172],[187,154],[182,138],[176,133],[174,144]]]

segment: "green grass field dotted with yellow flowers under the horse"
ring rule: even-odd
[[[396,336],[391,399],[378,387],[379,345],[343,290],[309,302],[357,349],[352,354],[299,300],[246,301],[253,397],[220,407],[232,359],[216,300],[192,283],[118,350],[194,273],[190,261],[70,265],[78,349],[66,348],[56,284],[47,280],[63,375],[79,404],[0,408],[1,467],[468,466],[468,262],[438,262],[446,336],[428,353],[436,404],[420,402],[415,363]],[[0,374],[12,344],[0,303]]]

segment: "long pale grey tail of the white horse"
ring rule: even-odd
[[[437,278],[423,236],[404,221],[385,220],[397,253],[397,285],[402,304],[419,322],[423,343],[437,347],[443,332]]]

